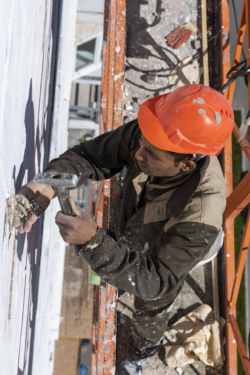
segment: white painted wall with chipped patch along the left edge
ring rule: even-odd
[[[53,199],[19,234],[12,199],[67,148],[76,1],[2,1],[0,14],[0,374],[47,375],[60,322],[60,206]]]

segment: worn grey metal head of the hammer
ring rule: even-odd
[[[78,180],[76,174],[61,172],[37,173],[33,178],[34,182],[55,187],[76,187]]]

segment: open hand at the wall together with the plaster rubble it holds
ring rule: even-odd
[[[49,185],[29,181],[15,195],[13,226],[18,233],[29,232],[40,214],[48,207],[54,197],[54,188]]]

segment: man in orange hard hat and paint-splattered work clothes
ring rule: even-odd
[[[226,185],[216,155],[233,126],[232,107],[222,94],[187,85],[148,99],[138,119],[82,141],[44,170],[76,174],[80,186],[126,167],[107,232],[71,198],[75,216],[59,211],[55,217],[63,240],[83,245],[79,254],[91,269],[135,296],[131,345],[118,365],[119,375],[142,371],[147,357],[158,350],[186,275],[217,238]],[[24,233],[55,194],[51,186],[33,181],[19,193],[40,205],[19,226]]]

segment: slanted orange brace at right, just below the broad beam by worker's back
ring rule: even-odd
[[[246,222],[246,226],[245,226],[245,230],[244,230],[244,234],[243,234],[243,239],[242,239],[242,243],[241,243],[241,250],[240,250],[240,255],[239,255],[237,269],[236,269],[236,276],[235,276],[235,279],[234,279],[232,296],[231,296],[230,304],[229,304],[230,305],[229,314],[232,313],[232,310],[236,306],[237,297],[238,297],[238,293],[239,293],[239,289],[240,289],[240,283],[241,283],[244,265],[245,265],[246,256],[247,256],[247,249],[248,249],[248,245],[249,245],[249,240],[250,240],[250,210],[249,210],[248,215],[247,215],[247,222]]]

